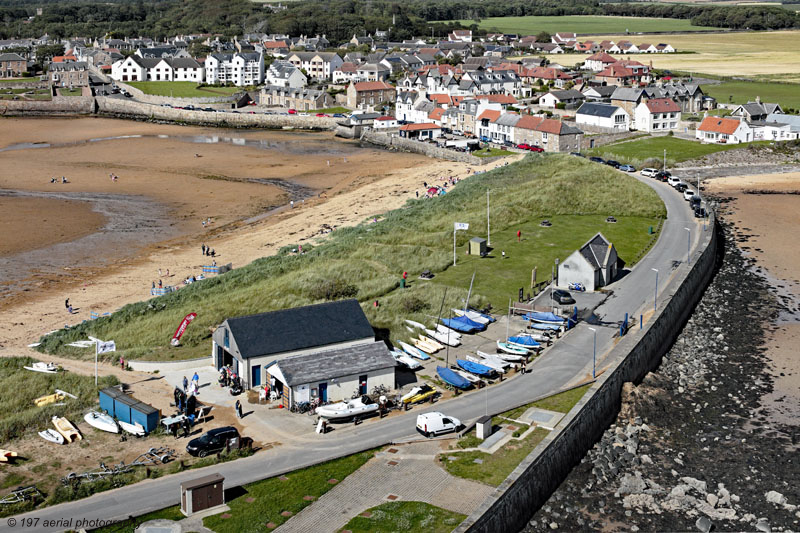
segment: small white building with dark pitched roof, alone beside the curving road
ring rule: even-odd
[[[558,265],[558,286],[582,283],[587,291],[594,291],[614,281],[619,263],[614,245],[597,233]]]

